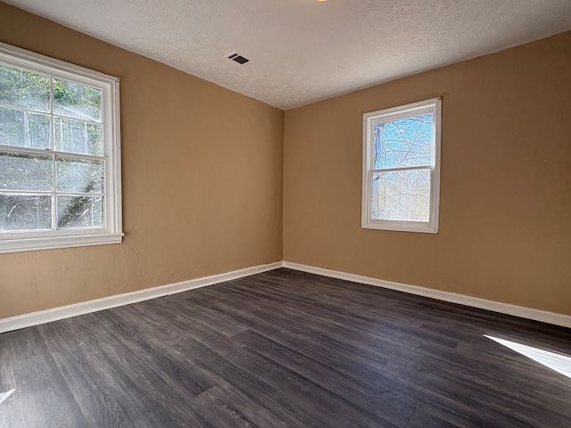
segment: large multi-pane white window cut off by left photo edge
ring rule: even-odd
[[[120,243],[119,79],[0,44],[0,252]]]

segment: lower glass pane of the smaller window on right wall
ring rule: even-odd
[[[371,218],[428,221],[430,170],[373,173]]]

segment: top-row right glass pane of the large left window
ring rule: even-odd
[[[55,114],[100,122],[101,101],[100,89],[54,78]]]

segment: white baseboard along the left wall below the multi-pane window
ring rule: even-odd
[[[277,261],[269,263],[268,265],[254,266],[252,268],[244,268],[234,270],[219,275],[203,276],[202,278],[190,279],[175,284],[161,285],[159,287],[146,288],[137,292],[126,292],[123,294],[116,294],[103,299],[82,301],[72,305],[62,306],[54,309],[40,310],[38,312],[31,312],[29,314],[18,315],[16,317],[9,317],[0,319],[0,333],[18,330],[32,325],[40,325],[56,321],[62,318],[76,317],[78,315],[88,314],[97,310],[111,309],[118,306],[129,305],[137,301],[154,299],[156,297],[174,294],[176,292],[186,292],[194,288],[205,287],[206,285],[223,283],[244,276],[251,276],[281,268],[284,266],[283,262]]]

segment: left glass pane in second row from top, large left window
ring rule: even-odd
[[[49,149],[50,117],[0,107],[0,144]]]

